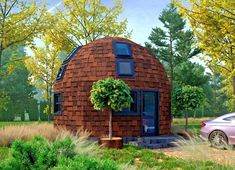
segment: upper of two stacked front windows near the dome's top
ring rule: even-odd
[[[117,58],[132,58],[130,44],[124,42],[114,42],[113,46]]]

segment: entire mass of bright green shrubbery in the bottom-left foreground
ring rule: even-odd
[[[84,136],[84,135],[83,135]],[[67,135],[50,143],[42,137],[36,136],[33,140],[16,140],[11,147],[11,157],[0,163],[4,170],[47,170],[47,169],[92,169],[116,170],[119,166],[111,160],[91,158],[86,152],[81,154],[76,146],[80,140]],[[85,143],[82,143],[86,147]],[[82,147],[79,148],[82,149]],[[88,149],[87,151],[91,151]]]

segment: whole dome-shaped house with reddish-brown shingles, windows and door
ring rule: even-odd
[[[65,59],[54,85],[55,125],[108,135],[108,111],[90,102],[93,82],[113,77],[131,88],[131,108],[113,112],[113,135],[121,137],[169,134],[171,85],[159,60],[128,39],[102,38],[77,47]]]

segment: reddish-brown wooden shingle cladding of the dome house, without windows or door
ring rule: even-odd
[[[159,90],[159,134],[170,133],[170,89],[166,72],[146,48],[124,38],[102,38],[80,48],[69,62],[63,78],[56,81],[55,93],[62,95],[62,111],[55,114],[55,125],[69,130],[86,129],[92,136],[108,134],[108,111],[96,111],[89,100],[92,83],[117,78],[113,42],[129,43],[134,61],[134,77],[118,77],[131,89]],[[113,116],[113,136],[140,136],[141,116]]]

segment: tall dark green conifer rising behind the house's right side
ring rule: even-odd
[[[200,50],[194,48],[193,33],[190,30],[184,31],[186,23],[172,4],[162,11],[159,20],[164,29],[153,28],[149,36],[151,43],[145,43],[145,45],[164,64],[171,80],[173,93],[175,66],[197,55]]]

